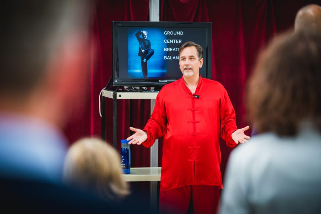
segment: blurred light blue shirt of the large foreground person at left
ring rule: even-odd
[[[0,176],[60,183],[64,136],[43,121],[0,114]]]

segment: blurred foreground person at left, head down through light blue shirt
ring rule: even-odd
[[[1,175],[61,182],[67,142],[60,129],[84,103],[77,94],[87,76],[89,6],[2,2]]]

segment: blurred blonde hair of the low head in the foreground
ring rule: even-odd
[[[80,139],[69,148],[63,181],[94,190],[105,200],[119,200],[129,194],[119,154],[98,138]]]

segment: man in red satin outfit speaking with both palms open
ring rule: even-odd
[[[193,200],[194,213],[215,213],[222,188],[220,136],[227,146],[247,142],[249,126],[237,129],[235,111],[226,89],[202,78],[203,49],[185,42],[179,49],[183,77],[165,85],[156,98],[151,118],[129,144],[151,147],[162,136],[160,213],[186,213]]]

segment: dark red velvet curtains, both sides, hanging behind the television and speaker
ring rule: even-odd
[[[303,5],[319,1],[290,0],[160,0],[160,21],[212,22],[212,78],[227,89],[238,127],[247,124],[244,88],[257,53],[274,35],[292,28]],[[85,109],[65,128],[70,142],[101,136],[99,93],[112,76],[112,21],[149,21],[148,0],[93,1],[91,68]],[[106,99],[106,140],[112,144],[112,100]],[[129,126],[143,128],[150,117],[150,100],[117,101],[117,140],[129,136]],[[247,132],[249,134],[249,132]],[[120,144],[118,145],[120,149]],[[132,146],[132,167],[150,165],[150,150]],[[222,174],[231,149],[221,142]],[[159,165],[161,159],[159,143]]]

